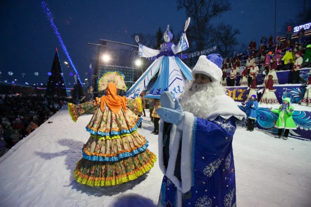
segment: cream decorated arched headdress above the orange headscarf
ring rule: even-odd
[[[124,82],[124,75],[121,72],[106,72],[98,79],[98,90],[105,90],[107,85],[112,82],[118,89],[126,91],[127,87]]]

